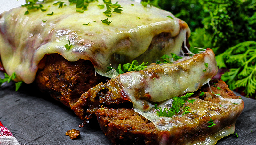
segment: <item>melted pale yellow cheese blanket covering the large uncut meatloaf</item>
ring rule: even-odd
[[[69,6],[67,0],[64,2],[67,6],[58,8],[58,5],[53,6],[54,1],[46,1],[43,3],[48,9],[46,12],[30,11],[29,15],[24,15],[27,9],[20,7],[1,14],[1,60],[6,72],[15,72],[18,81],[32,83],[37,65],[45,54],[58,53],[68,61],[90,60],[103,75],[110,63],[117,67],[137,59],[150,64],[163,54],[179,54],[186,35],[190,35],[187,24],[170,12],[144,8],[130,0],[118,1],[123,11],[122,14],[112,13],[108,18],[112,21],[110,25],[101,22],[107,18],[103,14],[106,7],[100,9],[97,5],[103,2],[90,3],[84,13],[76,12],[75,4]],[[54,14],[47,16],[51,12]],[[168,18],[169,15],[174,19]],[[82,25],[89,22],[89,25]],[[171,33],[170,45],[147,50],[152,38],[162,32]],[[68,40],[73,45],[70,50],[64,47]]]

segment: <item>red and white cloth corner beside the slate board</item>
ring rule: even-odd
[[[12,133],[0,121],[0,145],[20,145]]]

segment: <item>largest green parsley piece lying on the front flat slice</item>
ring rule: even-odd
[[[180,108],[183,108],[183,105],[186,103],[185,101],[188,101],[188,103],[192,103],[195,101],[195,100],[189,100],[188,98],[193,95],[194,93],[187,93],[186,95],[184,96],[181,96],[181,97],[173,97],[172,99],[174,100],[172,102],[172,107],[170,109],[167,109],[167,108],[164,108],[160,111],[156,111],[156,113],[159,115],[159,116],[165,116],[165,117],[172,117],[173,115],[177,114],[180,112]],[[185,109],[185,111],[188,111],[189,108]],[[188,112],[187,112],[188,113]]]

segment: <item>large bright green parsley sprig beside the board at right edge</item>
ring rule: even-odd
[[[229,68],[221,79],[231,90],[244,87],[247,96],[256,91],[256,42],[247,41],[228,48],[216,57],[219,68]]]

